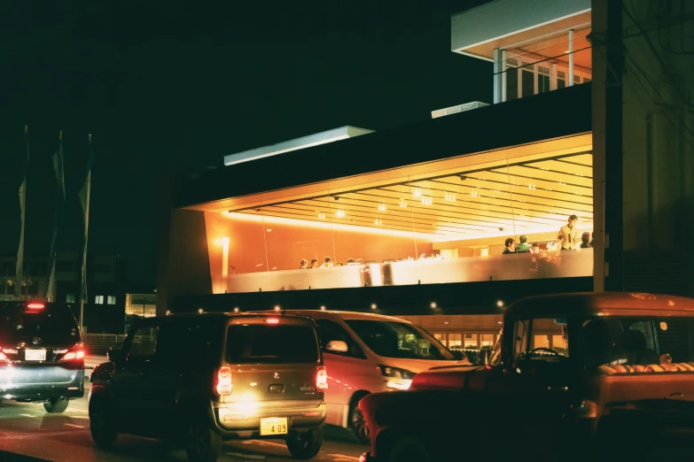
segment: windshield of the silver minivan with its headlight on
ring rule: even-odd
[[[456,357],[432,335],[404,322],[345,320],[363,343],[384,358],[455,361]]]

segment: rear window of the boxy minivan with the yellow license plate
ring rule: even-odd
[[[232,364],[317,361],[316,331],[309,326],[235,324],[227,332],[227,362]]]

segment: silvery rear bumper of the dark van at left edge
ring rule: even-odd
[[[84,396],[84,369],[63,366],[0,367],[0,401],[45,401]]]

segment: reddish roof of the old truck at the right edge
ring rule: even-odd
[[[602,316],[692,316],[694,299],[636,292],[583,292],[529,296],[509,305],[504,317],[542,314],[598,314]]]

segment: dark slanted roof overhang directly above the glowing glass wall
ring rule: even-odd
[[[184,184],[175,206],[222,212],[277,196],[296,200],[339,192],[359,175],[392,181],[386,176],[405,173],[398,169],[426,174],[427,165],[449,158],[589,134],[590,92],[590,84],[575,86],[214,169]]]

